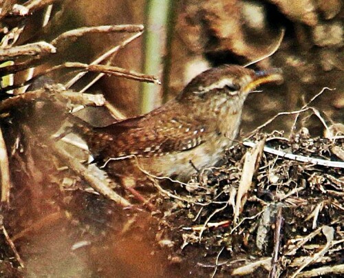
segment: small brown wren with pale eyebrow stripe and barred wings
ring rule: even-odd
[[[148,173],[186,182],[197,169],[213,167],[233,145],[248,94],[263,83],[281,81],[279,68],[220,65],[147,114],[105,127],[78,123],[76,129],[112,178],[131,177],[135,186]]]

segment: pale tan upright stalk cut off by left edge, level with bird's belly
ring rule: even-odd
[[[10,166],[5,140],[0,128],[0,173],[1,173],[1,202],[10,202]]]

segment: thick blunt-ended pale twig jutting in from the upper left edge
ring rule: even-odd
[[[10,60],[17,56],[34,56],[42,54],[56,53],[56,48],[50,43],[40,41],[38,43],[29,43],[27,45],[13,46],[8,49],[0,48],[0,61]]]

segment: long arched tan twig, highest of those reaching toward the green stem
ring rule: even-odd
[[[51,44],[56,45],[65,39],[70,37],[83,36],[89,33],[109,33],[109,32],[142,32],[144,29],[143,25],[101,25],[101,26],[92,26],[92,27],[83,27],[75,30],[67,31],[54,40]]]

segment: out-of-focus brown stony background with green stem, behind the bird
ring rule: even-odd
[[[49,41],[83,26],[144,24],[144,34],[111,57],[111,65],[153,74],[162,85],[104,76],[89,89],[105,94],[125,116],[158,107],[208,67],[224,63],[246,65],[278,47],[275,54],[251,67],[281,67],[285,83],[264,88],[263,94],[248,98],[243,129],[248,131],[279,111],[299,109],[323,87],[336,90],[323,94],[314,105],[332,120],[343,120],[340,0],[57,1],[53,12],[57,13],[57,20],[52,17],[52,22],[40,30],[43,10],[37,11],[35,22],[28,25],[23,39]],[[282,32],[285,34],[279,45]],[[129,36],[87,34],[62,43],[63,51],[51,56],[50,63],[90,63]],[[52,77],[64,82],[70,75],[56,72]],[[83,87],[93,77],[87,74],[74,89]],[[287,130],[291,122],[290,116],[279,118],[271,129]],[[316,121],[312,125],[316,127],[314,132],[319,131]]]

